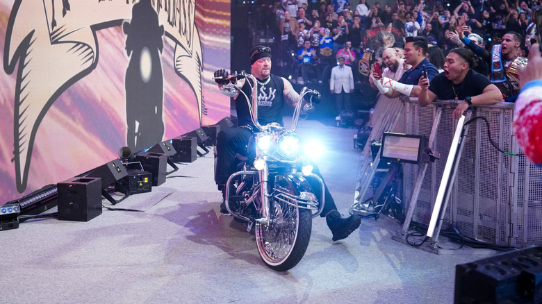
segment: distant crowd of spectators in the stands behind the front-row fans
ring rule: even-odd
[[[541,8],[541,0],[466,0],[457,5],[415,1],[395,0],[391,6],[361,0],[353,8],[348,0],[276,0],[266,8],[264,19],[279,40],[274,63],[282,67],[282,76],[293,75],[294,83],[329,83],[331,69],[342,57],[360,82],[366,81],[358,65],[363,52],[371,48],[364,45],[371,28],[394,28],[401,38],[425,37],[429,50],[435,47],[428,53],[438,69],[451,49],[463,47],[458,26],[467,26],[464,35],[488,50],[505,33],[517,32],[522,37],[518,56],[527,56],[536,37],[534,11]],[[402,45],[396,39],[393,47]],[[379,57],[383,50],[372,51]],[[488,65],[479,63],[476,70],[488,75]]]

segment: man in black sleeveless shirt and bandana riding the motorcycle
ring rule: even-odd
[[[282,119],[284,102],[295,106],[297,101],[299,101],[299,94],[295,92],[290,82],[285,78],[271,74],[271,49],[269,47],[261,45],[253,47],[250,51],[250,63],[252,68],[251,73],[256,77],[256,81],[258,81],[258,85],[260,86],[257,97],[258,123],[264,126],[270,122],[277,122],[281,126],[284,125]],[[227,72],[224,69],[215,71],[215,78],[220,76],[227,76]],[[218,83],[218,87],[229,82],[222,79],[216,79],[215,81]],[[243,90],[249,99],[252,99],[252,92],[247,81],[251,80],[247,80],[247,78],[238,80],[236,87]],[[219,189],[222,190],[222,194],[224,194],[224,185],[229,176],[236,171],[236,154],[246,154],[249,138],[254,135],[254,132],[258,131],[252,123],[249,112],[248,103],[250,101],[247,101],[245,95],[240,93],[234,96],[233,99],[236,102],[240,127],[221,130],[217,134],[216,142],[215,182]],[[318,167],[315,164],[313,164],[313,167],[314,174],[320,176]],[[311,183],[311,180],[309,180],[309,183]],[[311,187],[313,187],[315,193],[318,193],[320,188],[318,187],[318,183],[311,183]],[[220,212],[227,213],[224,202],[220,205]],[[320,216],[326,217],[327,226],[333,233],[334,241],[344,239],[356,230],[361,223],[361,219],[357,215],[351,215],[347,218],[340,216],[327,186],[325,186],[324,210],[322,210]]]

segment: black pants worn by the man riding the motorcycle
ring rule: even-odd
[[[221,130],[217,134],[216,138],[216,164],[215,164],[215,182],[217,185],[226,185],[229,176],[236,172],[237,169],[237,158],[236,153],[241,155],[246,155],[247,153],[247,144],[249,138],[254,134],[251,130],[247,128],[227,128]],[[316,164],[312,164],[314,169],[313,173],[322,178],[320,170]],[[320,183],[314,178],[307,178],[311,187],[313,188],[314,193],[317,196],[320,196],[322,192],[322,187]],[[324,180],[324,178],[322,178]],[[324,210],[320,214],[320,217],[325,217],[327,213],[331,210],[337,210],[333,196],[329,193],[327,185],[325,185],[325,205]]]

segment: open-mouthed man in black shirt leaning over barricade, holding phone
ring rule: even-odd
[[[470,105],[500,102],[502,95],[498,87],[486,76],[473,71],[470,67],[474,63],[473,51],[465,48],[450,50],[446,56],[444,71],[433,78],[431,85],[426,78],[420,78],[420,105],[429,105],[435,99],[459,101],[452,114],[455,119],[459,119]]]

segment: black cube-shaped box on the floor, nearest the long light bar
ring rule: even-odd
[[[58,219],[90,221],[100,215],[101,185],[100,178],[88,177],[70,178],[58,183]]]

